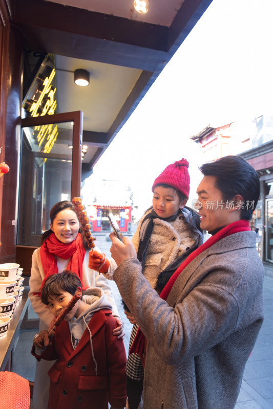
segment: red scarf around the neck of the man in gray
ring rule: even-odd
[[[238,220],[233,223],[228,224],[225,226],[223,229],[221,229],[219,232],[217,232],[214,236],[209,237],[207,241],[205,241],[200,247],[196,248],[196,250],[191,253],[184,261],[183,263],[180,264],[180,266],[176,269],[170,280],[167,282],[165,287],[162,289],[162,291],[159,294],[159,297],[162,298],[163,300],[166,300],[167,297],[169,296],[169,293],[176,281],[176,279],[179,277],[181,271],[190,264],[192,260],[195,259],[195,257],[199,256],[202,252],[204,252],[208,247],[211,247],[213,244],[215,244],[217,241],[223,239],[224,237],[230,236],[232,234],[238,233],[238,232],[245,232],[251,230],[249,228],[249,221],[247,220]],[[130,354],[137,354],[140,357],[143,358],[144,354],[144,346],[145,346],[145,336],[143,335],[142,331],[140,328],[138,328],[135,340],[133,342],[133,345],[129,351]]]

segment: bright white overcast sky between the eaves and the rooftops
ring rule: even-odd
[[[209,123],[272,113],[272,21],[273,0],[214,0],[95,165],[83,199],[93,178],[124,180],[142,214],[155,177],[182,157],[194,197],[203,162],[189,138]]]

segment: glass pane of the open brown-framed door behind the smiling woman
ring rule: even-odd
[[[17,244],[37,246],[50,228],[51,207],[71,197],[73,123],[25,127],[22,133]]]

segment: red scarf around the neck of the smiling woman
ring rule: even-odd
[[[80,233],[71,243],[62,243],[57,239],[54,233],[44,241],[40,247],[40,259],[45,271],[45,278],[41,284],[43,288],[45,280],[52,274],[58,273],[57,258],[69,260],[67,270],[73,271],[79,277],[82,284],[82,264],[86,251],[82,246]]]

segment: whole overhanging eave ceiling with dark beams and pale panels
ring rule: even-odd
[[[83,111],[85,179],[212,0],[150,0],[143,15],[133,0],[7,3],[25,48],[55,54],[58,112]],[[88,87],[73,82],[79,68]]]

